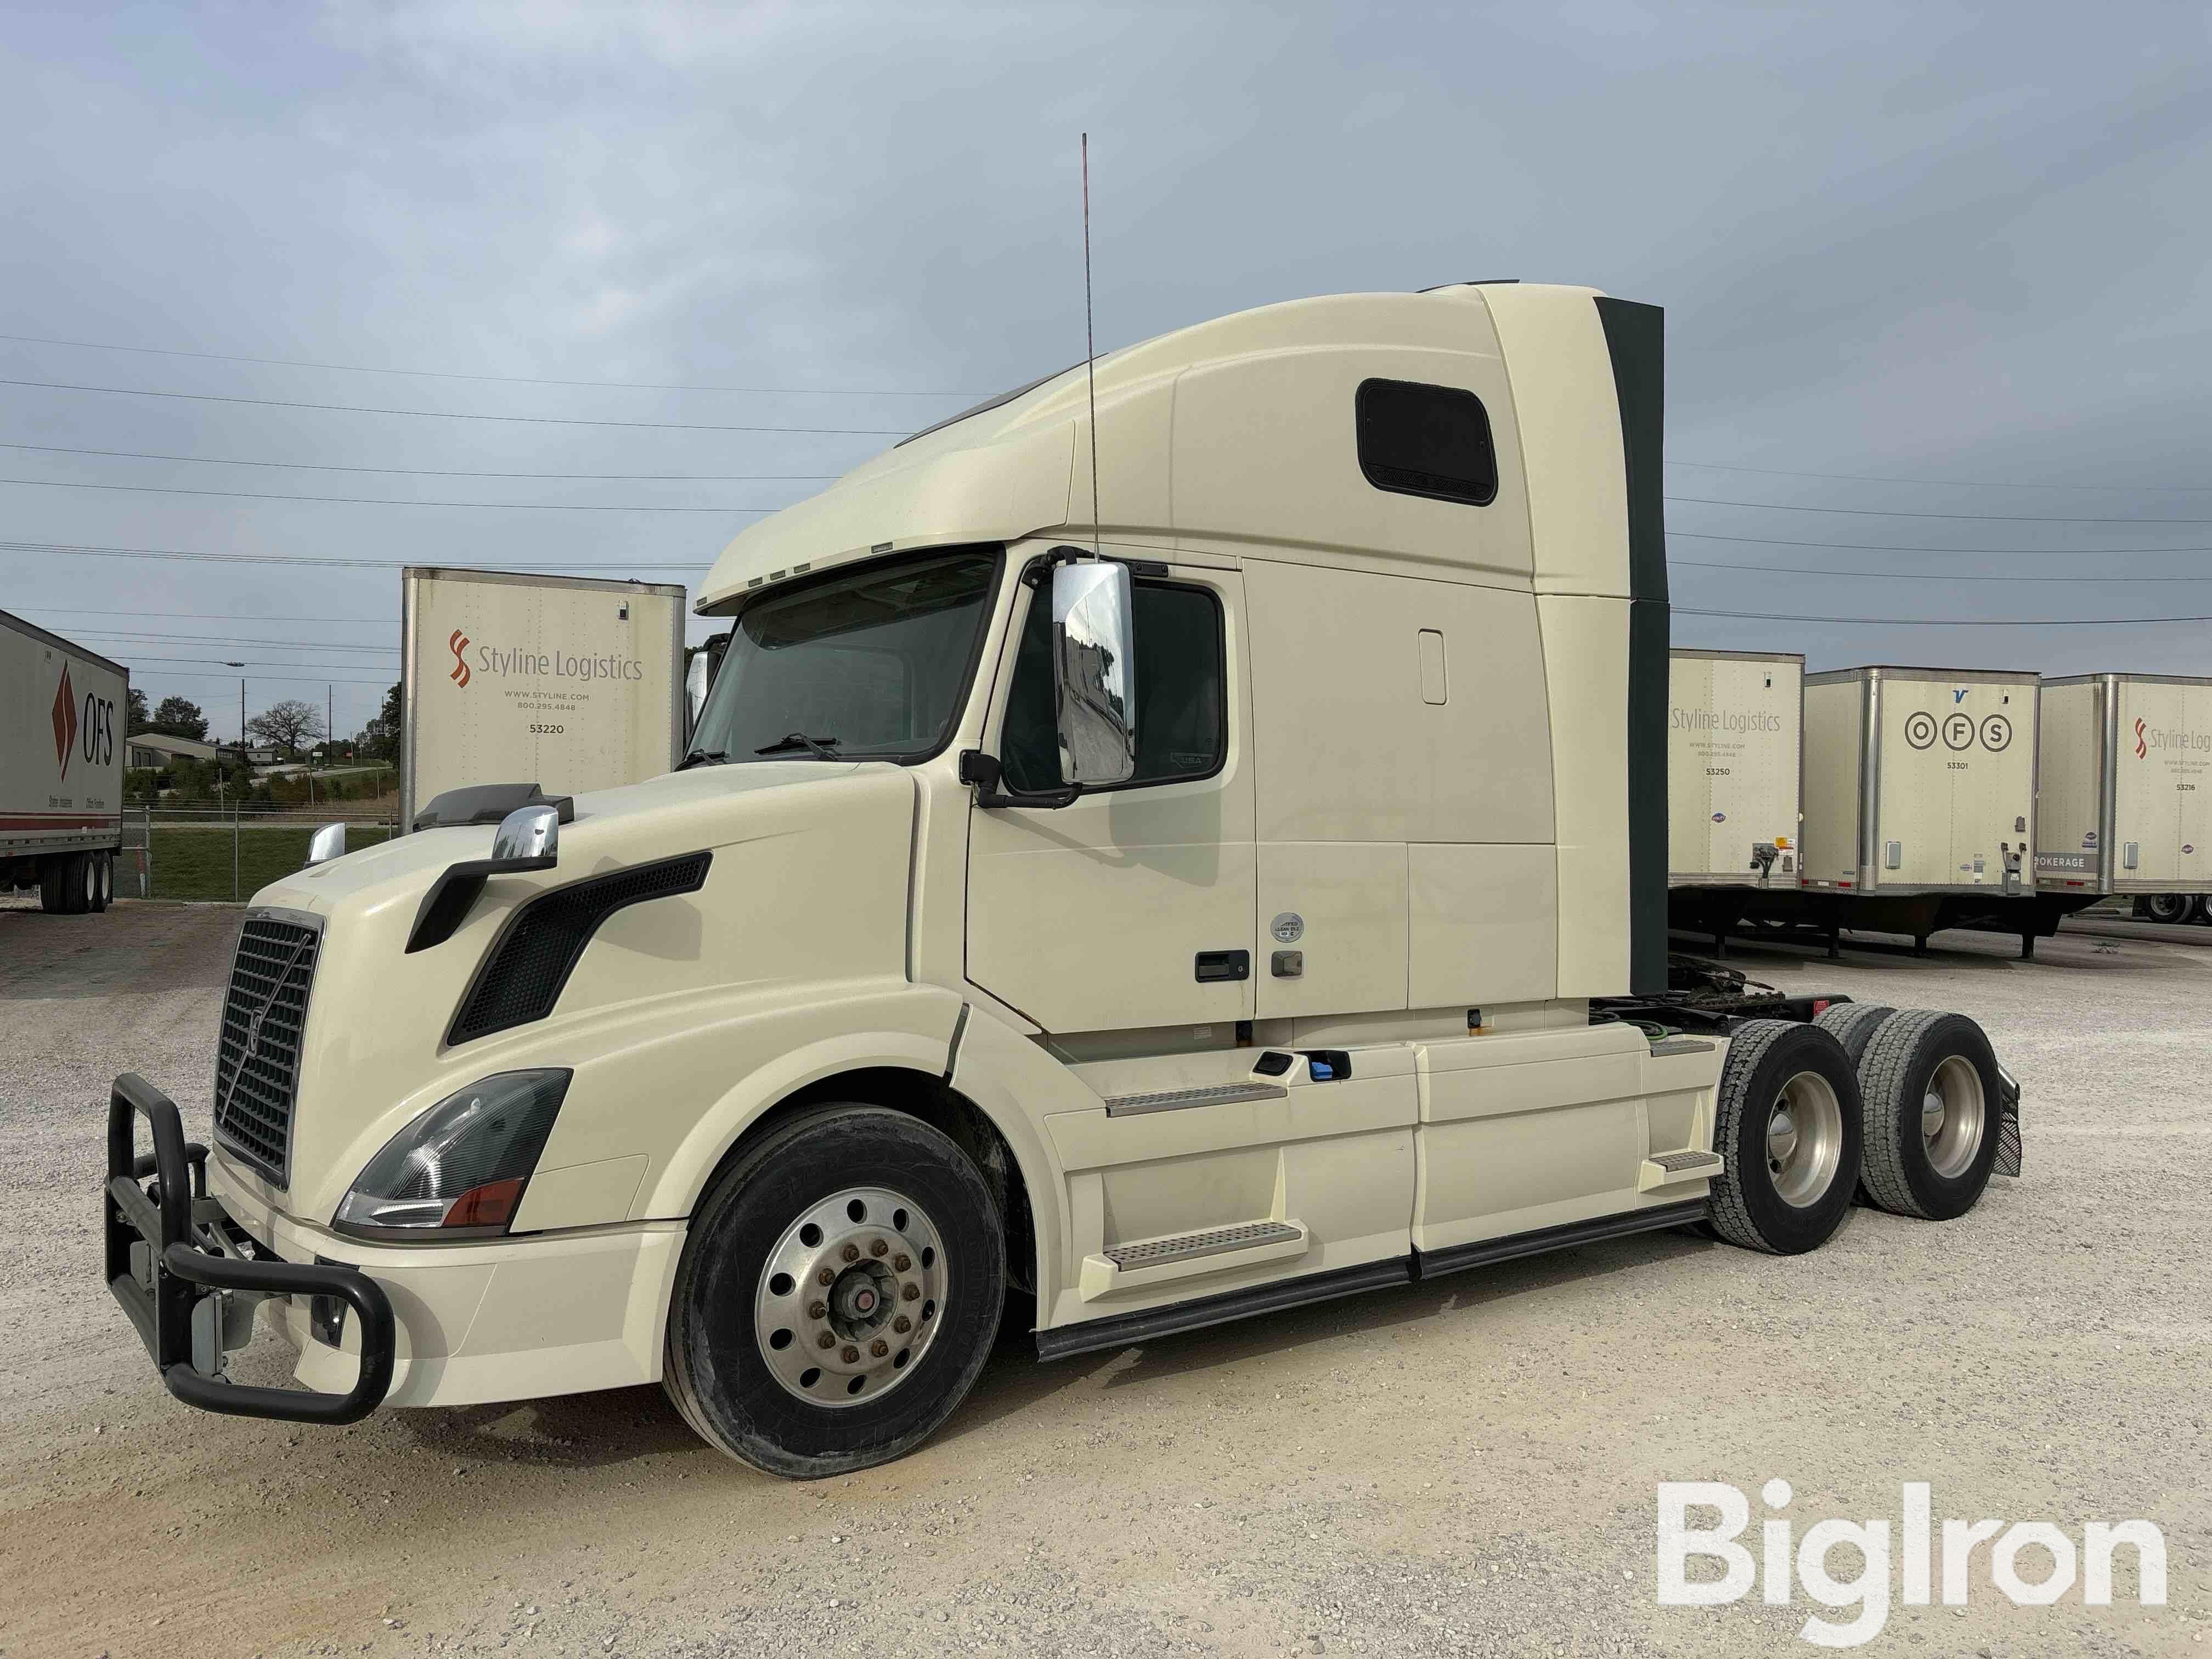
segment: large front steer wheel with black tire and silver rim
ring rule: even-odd
[[[869,1469],[960,1407],[1004,1296],[1004,1225],[967,1152],[905,1113],[818,1106],[701,1199],[666,1389],[708,1444],[763,1473]]]

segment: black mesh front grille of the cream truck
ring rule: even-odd
[[[248,916],[215,1046],[215,1135],[276,1183],[292,1152],[292,1099],[307,989],[323,936],[314,927]]]

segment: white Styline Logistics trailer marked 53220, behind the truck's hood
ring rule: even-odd
[[[400,823],[449,790],[613,790],[684,757],[684,588],[400,573]]]

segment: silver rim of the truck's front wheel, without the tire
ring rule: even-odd
[[[761,1265],[752,1329],[768,1374],[807,1405],[867,1405],[914,1371],[945,1323],[945,1241],[887,1188],[832,1192]]]

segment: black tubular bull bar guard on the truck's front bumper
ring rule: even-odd
[[[153,1152],[137,1150],[139,1117]],[[108,1290],[179,1400],[285,1422],[358,1422],[383,1402],[396,1347],[383,1287],[354,1267],[276,1261],[239,1232],[208,1197],[208,1148],[184,1139],[177,1104],[133,1071],[108,1095],[102,1210]],[[243,1345],[239,1332],[268,1296],[336,1296],[354,1310],[361,1378],[349,1391],[259,1389],[223,1376],[223,1349]]]

